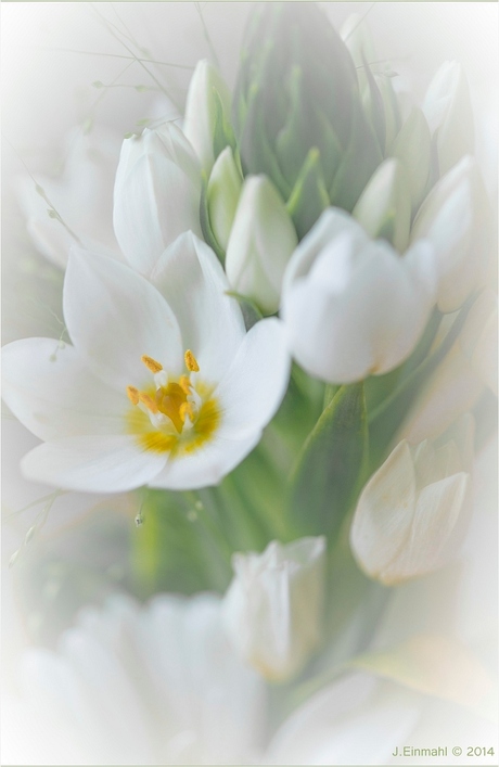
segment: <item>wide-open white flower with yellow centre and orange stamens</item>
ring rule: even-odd
[[[73,345],[4,347],[4,399],[46,442],[24,458],[28,477],[103,493],[202,487],[259,440],[287,383],[281,323],[245,332],[220,264],[192,233],[155,280],[76,248],[64,284]]]

